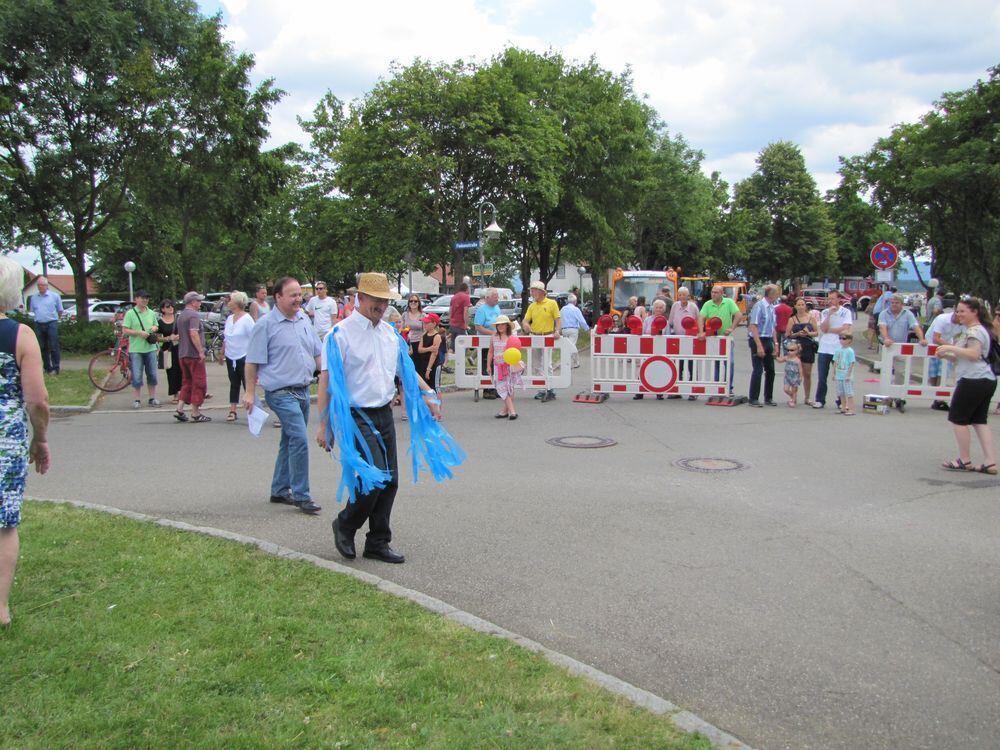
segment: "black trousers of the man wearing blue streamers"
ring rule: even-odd
[[[372,459],[380,469],[388,469],[392,479],[381,489],[358,495],[353,503],[348,503],[337,518],[340,528],[353,536],[358,529],[368,522],[368,534],[365,546],[384,547],[392,540],[392,530],[389,528],[389,517],[392,515],[392,503],[399,489],[399,467],[396,464],[396,426],[392,421],[392,407],[388,404],[374,409],[351,409],[354,423],[361,430],[361,435],[371,451]],[[362,416],[363,415],[363,416]],[[365,419],[367,417],[368,419]],[[369,424],[370,421],[370,424]],[[372,427],[375,430],[372,430]],[[382,438],[376,436],[376,432]],[[385,449],[383,450],[383,445]],[[362,447],[358,446],[359,450]]]

